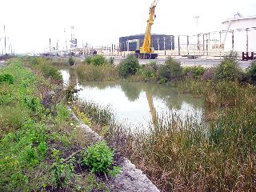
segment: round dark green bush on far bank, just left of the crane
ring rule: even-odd
[[[122,62],[118,66],[118,74],[122,78],[127,78],[130,75],[136,74],[139,70],[140,66],[138,63],[138,58],[134,55],[128,55],[127,58],[122,60]]]

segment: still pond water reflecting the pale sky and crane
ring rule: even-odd
[[[154,110],[163,118],[175,113],[181,118],[189,116],[202,122],[202,98],[178,94],[174,87],[134,82],[81,82],[74,70],[62,67],[60,71],[65,86],[72,81],[82,89],[78,93],[79,99],[110,106],[117,120],[129,126],[148,126]]]

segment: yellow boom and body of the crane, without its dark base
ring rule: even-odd
[[[152,54],[154,53],[154,49],[151,48],[151,26],[154,23],[154,10],[155,7],[157,6],[159,0],[154,0],[150,6],[150,14],[149,14],[149,19],[147,20],[147,26],[146,26],[146,34],[144,37],[144,42],[142,47],[140,47],[139,52],[140,54]]]

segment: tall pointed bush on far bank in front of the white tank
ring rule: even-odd
[[[215,78],[217,80],[236,81],[239,78],[237,53],[230,52],[216,68]]]

